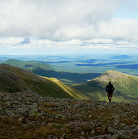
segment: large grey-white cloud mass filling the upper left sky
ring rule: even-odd
[[[116,0],[1,0],[0,35],[60,40],[70,39],[75,32],[73,37],[79,37],[87,26],[108,19],[117,3]],[[70,29],[75,30],[70,33]]]

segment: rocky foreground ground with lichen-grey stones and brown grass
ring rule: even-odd
[[[0,138],[137,139],[138,104],[0,93]]]

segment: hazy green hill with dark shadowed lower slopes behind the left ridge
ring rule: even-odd
[[[94,79],[101,75],[100,73],[80,74],[56,71],[56,69],[50,67],[49,64],[39,63],[37,61],[21,61],[16,59],[9,59],[6,60],[3,64],[19,67],[27,71],[33,72],[37,75],[45,77],[54,77],[61,80],[66,85],[71,85],[74,83],[84,83],[87,81],[87,79]]]

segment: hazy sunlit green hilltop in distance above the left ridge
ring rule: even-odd
[[[47,63],[39,63],[37,61],[20,61],[16,59],[9,59],[4,63],[11,66],[23,68],[25,70],[33,70],[36,68],[42,68],[44,70],[52,70],[52,68]]]

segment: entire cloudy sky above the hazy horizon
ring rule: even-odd
[[[0,55],[138,52],[138,0],[0,0]]]

